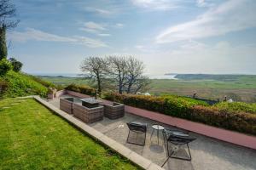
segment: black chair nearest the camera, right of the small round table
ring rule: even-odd
[[[163,134],[165,136],[166,143],[167,143],[168,158],[166,159],[166,161],[168,161],[168,159],[170,157],[171,158],[175,158],[175,159],[184,160],[184,161],[191,161],[192,157],[191,157],[190,150],[189,150],[189,143],[194,141],[196,138],[190,137],[189,133],[186,133],[186,132],[173,131],[173,130],[168,130],[168,129],[165,129],[163,131]],[[173,154],[175,154],[177,152],[177,150],[176,151],[172,150],[171,153],[170,153],[169,143],[175,144],[177,146],[186,144],[186,146],[187,146],[187,148],[189,150],[189,158],[173,156]],[[166,164],[166,161],[164,162],[162,167]]]

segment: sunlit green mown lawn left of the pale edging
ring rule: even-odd
[[[0,100],[0,169],[138,168],[34,99],[11,105],[19,100]]]

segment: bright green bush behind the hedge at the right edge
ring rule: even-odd
[[[256,114],[256,104],[247,104],[244,102],[221,102],[215,105],[221,111],[230,111],[230,112],[247,112]]]

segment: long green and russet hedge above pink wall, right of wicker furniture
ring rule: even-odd
[[[207,103],[195,99],[178,96],[154,97],[115,93],[105,94],[104,99],[193,122],[202,122],[215,127],[256,135],[256,115],[245,111],[222,110],[217,106],[209,106]]]

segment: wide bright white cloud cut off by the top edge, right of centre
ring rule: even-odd
[[[170,0],[131,0],[131,3],[140,8],[149,8],[155,10],[177,8],[173,1]]]

